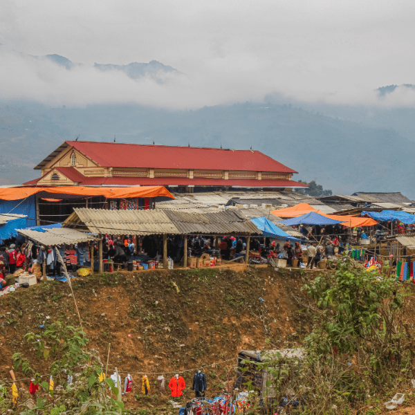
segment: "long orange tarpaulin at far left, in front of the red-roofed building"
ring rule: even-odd
[[[104,196],[107,199],[129,199],[135,197],[165,196],[174,199],[174,196],[163,186],[140,187],[6,187],[0,189],[0,199],[5,201],[17,201],[26,199],[39,192],[49,194],[73,195],[73,196]]]

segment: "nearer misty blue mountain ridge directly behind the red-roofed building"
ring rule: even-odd
[[[137,142],[257,149],[337,194],[400,191],[415,197],[415,142],[391,128],[369,127],[292,107],[233,104],[196,111],[139,105],[53,108],[26,102],[0,107],[2,157],[8,183],[38,176],[31,167],[64,140]],[[1,165],[1,160],[0,160]],[[235,166],[237,169],[237,166]]]

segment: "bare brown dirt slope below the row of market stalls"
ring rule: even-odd
[[[267,338],[272,347],[297,344],[312,323],[311,315],[300,311],[306,301],[300,291],[306,277],[304,271],[273,268],[151,270],[77,278],[73,288],[89,347],[100,351],[106,362],[111,343],[110,374],[118,367],[122,378],[126,372],[133,376],[126,406],[156,414],[167,410],[170,396],[160,394],[153,373],[171,372],[164,375],[168,391],[174,372],[206,367],[208,395],[215,396],[232,380],[239,349],[261,349]],[[40,333],[42,324],[57,320],[78,325],[68,284],[19,289],[1,297],[0,304],[0,378],[10,380],[15,352],[24,353],[34,369],[48,374],[51,360],[37,360],[24,335]],[[216,362],[223,363],[207,367]],[[142,395],[142,374],[134,372],[148,374],[150,396]],[[20,371],[16,376],[26,378]],[[185,403],[194,397],[194,371],[182,376]],[[18,386],[27,391],[28,384],[24,380]]]

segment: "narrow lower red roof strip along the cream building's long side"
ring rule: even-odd
[[[177,178],[177,177],[88,177],[82,186],[239,186],[239,187],[306,187],[303,183],[293,180],[253,180],[253,179],[230,179],[223,178]]]

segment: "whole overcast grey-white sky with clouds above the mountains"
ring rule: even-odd
[[[139,102],[197,108],[268,93],[342,104],[379,101],[378,86],[415,84],[414,0],[1,0],[0,91],[50,104]],[[71,71],[28,55],[57,53]],[[156,59],[165,83],[92,66]]]

